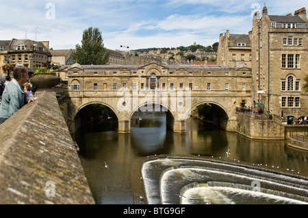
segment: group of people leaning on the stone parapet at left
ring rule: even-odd
[[[5,77],[5,83],[0,83],[0,124],[8,120],[21,107],[38,99],[34,96],[36,87],[29,83],[27,68],[18,67],[13,72],[13,79]]]

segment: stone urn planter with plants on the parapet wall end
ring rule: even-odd
[[[60,77],[57,77],[53,70],[48,68],[34,68],[34,76],[30,78],[30,82],[38,88],[51,88],[59,84]]]

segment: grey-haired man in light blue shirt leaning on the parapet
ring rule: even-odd
[[[11,115],[16,113],[23,105],[38,99],[35,96],[29,96],[23,89],[29,77],[27,68],[18,67],[14,70],[14,79],[8,83],[3,92],[0,105],[0,124],[8,120]]]

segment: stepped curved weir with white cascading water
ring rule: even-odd
[[[308,178],[230,161],[159,158],[142,166],[149,204],[308,204]]]

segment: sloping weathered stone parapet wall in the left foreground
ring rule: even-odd
[[[0,126],[0,204],[95,204],[53,90]]]

